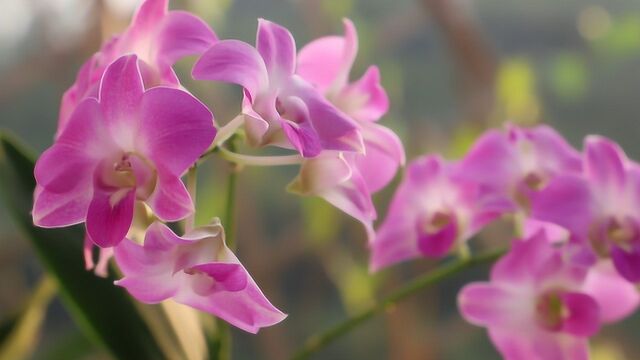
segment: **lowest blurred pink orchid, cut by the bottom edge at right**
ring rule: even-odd
[[[490,277],[466,285],[458,306],[467,321],[488,328],[505,359],[589,358],[588,338],[600,328],[601,306],[583,289],[587,268],[565,261],[543,231],[515,241]]]

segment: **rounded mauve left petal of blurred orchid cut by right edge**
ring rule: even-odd
[[[593,218],[593,197],[584,178],[561,175],[553,179],[531,201],[531,217],[560,225],[585,238]]]

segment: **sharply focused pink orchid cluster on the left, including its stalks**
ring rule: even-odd
[[[182,177],[212,153],[241,164],[299,164],[292,191],[325,198],[372,233],[371,194],[391,181],[404,151],[376,124],[389,106],[377,67],[349,79],[358,39],[349,20],[344,26],[344,36],[298,53],[291,33],[267,20],[253,46],[218,39],[195,15],[169,11],[168,0],[144,1],[63,96],[55,143],[36,164],[34,223],[84,223],[87,269],[105,275],[113,258],[123,275],[116,284],[139,301],[173,299],[253,333],[282,321],[227,247],[220,221],[192,228],[194,199]],[[194,79],[242,87],[241,113],[225,126],[173,70],[188,55],[198,57]],[[250,146],[292,155],[229,151],[225,142],[241,131]],[[168,226],[180,220],[182,235]]]

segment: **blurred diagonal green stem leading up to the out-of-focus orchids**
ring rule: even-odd
[[[506,250],[500,249],[482,255],[468,258],[460,258],[444,264],[416,279],[411,280],[400,289],[394,291],[386,298],[361,311],[345,321],[329,328],[328,330],[310,337],[304,345],[291,357],[293,360],[307,359],[314,353],[339,339],[343,335],[356,329],[358,326],[371,319],[374,315],[392,309],[396,303],[418,293],[420,290],[440,283],[441,281],[462,272],[470,267],[492,263],[502,256]]]

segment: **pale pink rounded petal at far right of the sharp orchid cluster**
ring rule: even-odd
[[[355,164],[367,188],[375,193],[387,186],[398,167],[404,165],[404,148],[398,136],[384,126],[368,123],[360,131],[366,154],[356,156]]]

